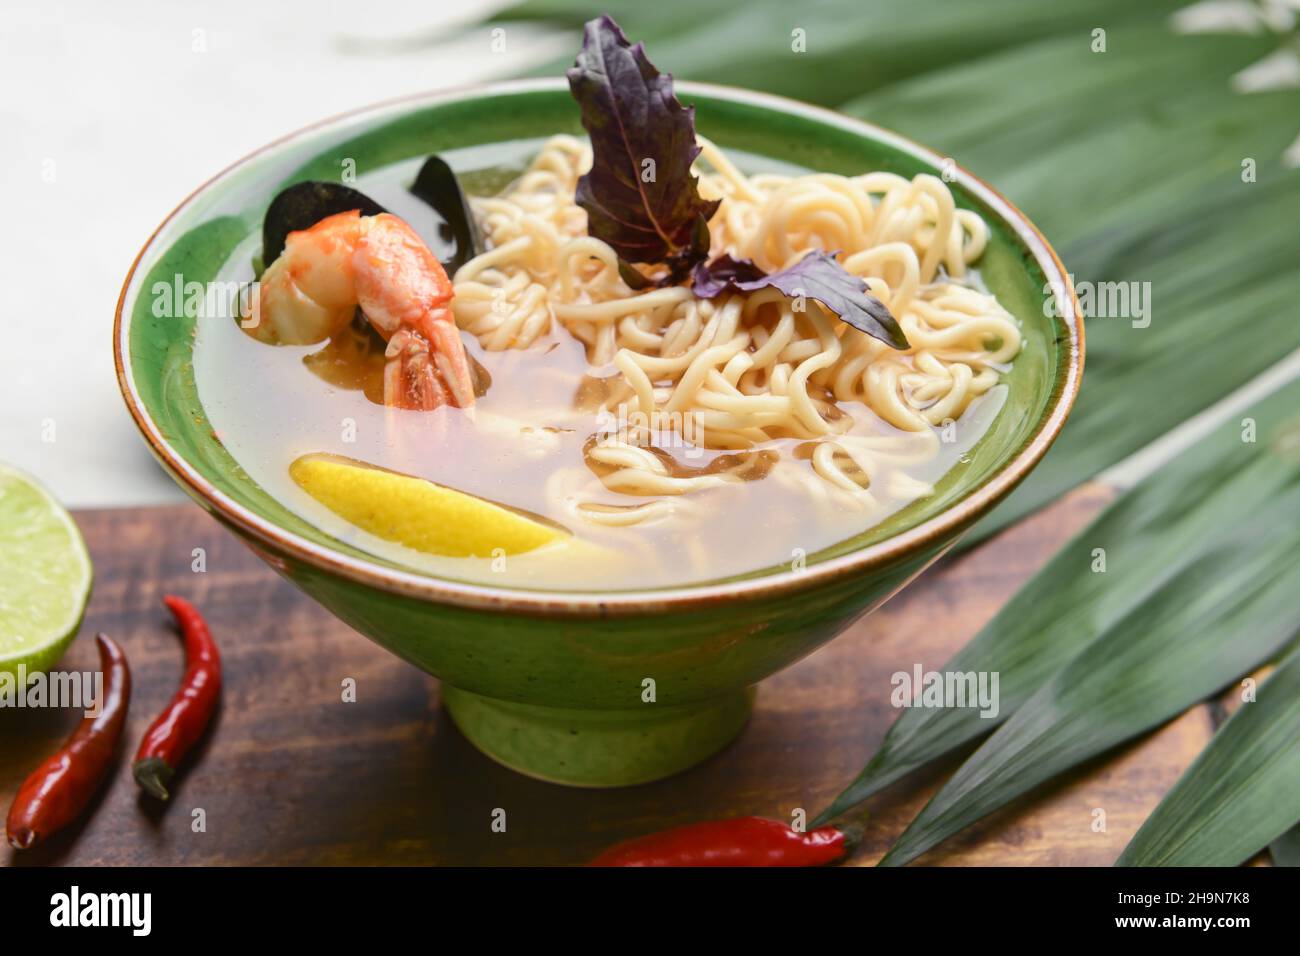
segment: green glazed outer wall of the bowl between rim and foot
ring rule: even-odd
[[[342,620],[459,688],[519,702],[612,710],[638,709],[647,678],[664,705],[754,684],[840,633],[936,554],[927,549],[796,598],[722,601],[618,619],[432,605],[300,562],[289,562],[283,571]]]

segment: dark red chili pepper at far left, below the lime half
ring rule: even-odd
[[[99,714],[87,717],[68,743],[36,767],[18,788],[5,831],[17,849],[27,849],[72,823],[95,796],[113,762],[131,700],[126,654],[108,635],[96,635],[104,696]]]

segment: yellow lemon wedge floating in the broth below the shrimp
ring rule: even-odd
[[[491,558],[568,537],[563,528],[520,511],[339,455],[303,455],[289,475],[339,518],[426,554]]]

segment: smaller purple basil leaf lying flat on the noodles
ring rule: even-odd
[[[771,276],[749,259],[722,255],[707,265],[696,265],[692,276],[694,293],[702,299],[712,299],[727,289],[754,293],[772,286],[790,298],[802,295],[816,299],[853,328],[888,346],[909,347],[907,337],[885,303],[871,295],[866,281],[840,265],[833,254],[814,250],[794,265]]]

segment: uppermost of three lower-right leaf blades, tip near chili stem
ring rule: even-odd
[[[1279,631],[1296,626],[1295,598],[1286,587],[1288,580],[1291,588],[1300,587],[1300,566],[1294,561],[1300,550],[1295,522],[1300,511],[1300,455],[1286,445],[1295,438],[1284,419],[1297,407],[1300,382],[1294,382],[1253,411],[1243,412],[1256,423],[1256,442],[1244,444],[1243,425],[1230,421],[1117,499],[941,669],[998,674],[998,714],[985,719],[978,709],[904,710],[871,762],[818,817],[816,825],[970,744],[1008,718],[1019,721],[1011,728],[1011,743],[1034,745],[1032,734],[1026,737],[1026,732],[1050,730],[1032,723],[1044,718],[1044,709],[1048,717],[1056,713],[1052,708],[1061,705],[1062,695],[1087,706],[1088,698],[1071,695],[1089,688],[1101,698],[1096,713],[1084,714],[1083,724],[1063,728],[1082,732],[1088,726],[1088,734],[1058,753],[1043,756],[1023,775],[1009,774],[1000,782],[1005,793],[1023,792],[1046,779],[1043,771],[1050,775],[1063,769],[1058,767],[1062,758],[1069,766],[1082,758],[1080,753],[1097,753],[1158,723],[1169,708],[1176,713],[1180,701],[1186,700],[1180,706],[1187,706],[1264,659],[1286,636]],[[1105,562],[1105,571],[1095,572],[1101,567],[1098,561]],[[1278,580],[1278,575],[1290,578]],[[1225,600],[1213,604],[1212,596],[1221,594]],[[1247,594],[1257,594],[1258,604],[1243,605]],[[1271,619],[1266,613],[1273,607],[1270,601],[1282,602]],[[1182,626],[1186,635],[1178,631]],[[1225,641],[1227,633],[1234,640]],[[1174,646],[1176,656],[1169,654]],[[1139,650],[1150,657],[1134,659]],[[1161,654],[1170,659],[1162,661]],[[1121,661],[1167,670],[1152,678],[1154,689],[1136,701],[1136,709],[1117,710],[1106,723],[1112,688],[1098,685],[1097,675],[1109,679]],[[1096,674],[1079,674],[1088,667],[1096,667]],[[1175,672],[1187,670],[1192,674],[1175,678]],[[1140,671],[1119,674],[1114,691],[1148,676]],[[1079,687],[1061,687],[1062,680]],[[1209,687],[1201,691],[1206,683]],[[1188,696],[1193,693],[1200,697]],[[1034,700],[1037,710],[1022,719],[1020,710]],[[1117,708],[1121,701],[1114,697]],[[1087,723],[1089,717],[1096,719],[1095,726]],[[989,745],[998,739],[994,736]],[[988,760],[987,754],[982,758]],[[965,773],[966,767],[959,775]],[[937,805],[922,816],[944,810],[952,795],[945,788],[942,796],[944,801],[936,797]],[[976,809],[978,816],[988,812]],[[945,816],[945,822],[952,819]]]

